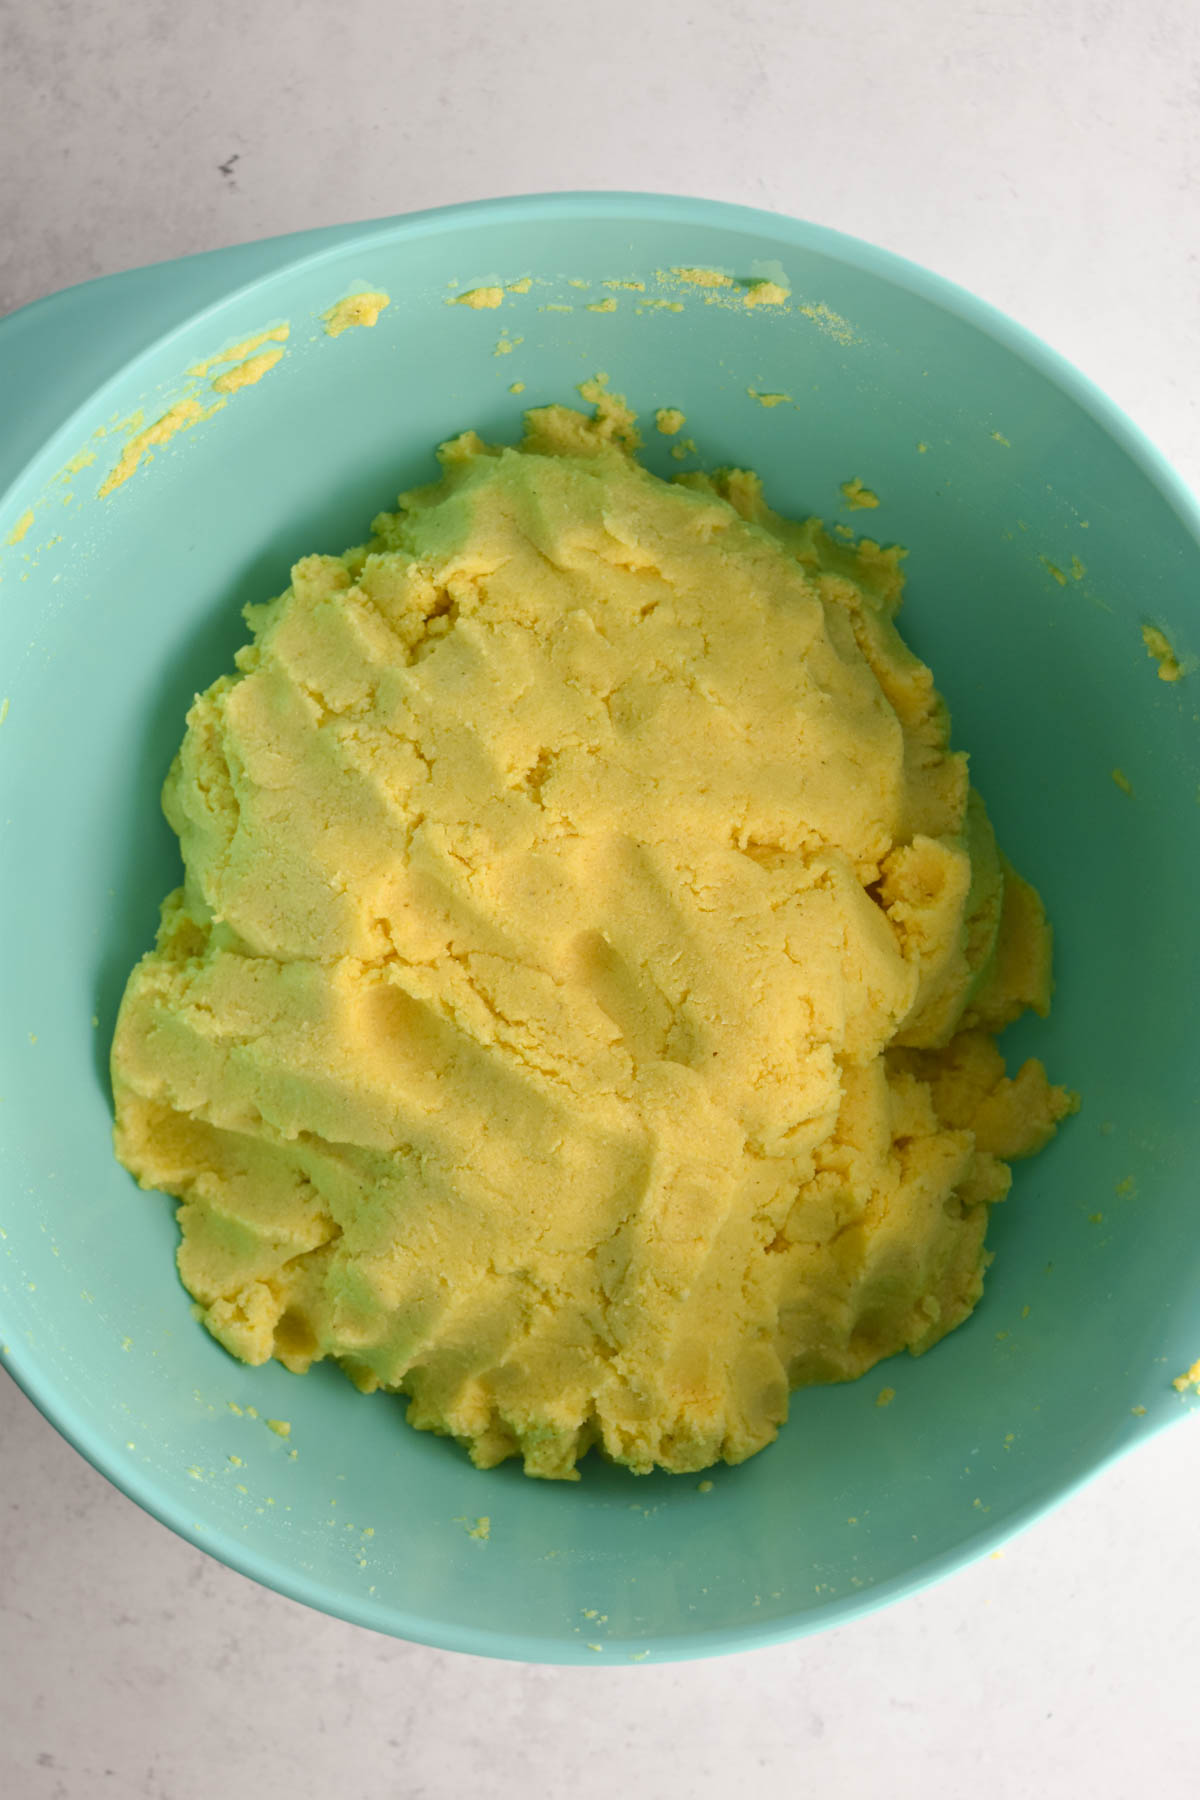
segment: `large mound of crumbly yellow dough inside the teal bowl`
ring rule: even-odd
[[[900,553],[657,479],[585,394],[248,608],[112,1058],[234,1355],[536,1476],[741,1462],[790,1388],[927,1350],[1072,1103],[993,1044],[1049,934]]]

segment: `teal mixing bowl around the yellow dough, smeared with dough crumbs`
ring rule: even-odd
[[[747,306],[761,279],[786,302]],[[322,315],[362,288],[390,304],[331,337]],[[500,304],[448,304],[475,288]],[[282,324],[257,382],[214,391],[228,362],[189,376]],[[0,326],[0,1339],[126,1494],[358,1624],[599,1665],[846,1620],[1191,1408],[1171,1377],[1200,1355],[1200,520],[1087,382],[867,245],[639,194],[459,207],[97,283]],[[1052,1015],[1006,1048],[1083,1096],[1016,1170],[975,1318],[925,1359],[795,1395],[779,1442],[711,1485],[596,1460],[578,1485],[480,1474],[336,1370],[243,1368],[189,1312],[171,1202],[110,1148],[115,1008],[178,869],[158,788],[241,607],[295,556],[362,538],[439,439],[513,439],[522,407],[596,371],[644,416],[687,414],[675,439],[648,434],[664,473],[750,464],[777,508],[909,547],[907,634],[1056,927]],[[139,436],[164,418],[182,428]],[[847,509],[855,477],[878,509]],[[1146,625],[1182,679],[1159,679]]]

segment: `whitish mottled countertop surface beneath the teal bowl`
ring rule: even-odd
[[[653,187],[1011,311],[1200,488],[1195,0],[0,4],[0,311],[221,243]],[[209,1561],[0,1375],[5,1800],[1184,1800],[1200,1431],[856,1625],[664,1669],[394,1643]]]

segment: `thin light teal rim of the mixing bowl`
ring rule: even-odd
[[[27,457],[22,468],[18,468],[14,479],[7,484],[4,493],[0,493],[0,513],[7,509],[9,499],[20,491],[43,461],[59,455],[61,441],[72,439],[76,432],[76,419],[86,410],[92,410],[97,403],[103,403],[104,396],[112,389],[124,385],[140,364],[169,347],[176,337],[193,333],[205,317],[225,311],[232,302],[252,301],[257,290],[275,286],[281,277],[288,277],[297,270],[317,268],[322,261],[344,259],[351,248],[369,254],[372,243],[380,239],[394,241],[421,238],[437,232],[470,229],[475,223],[522,223],[534,218],[545,221],[579,216],[660,220],[664,223],[696,227],[718,225],[727,230],[741,230],[745,234],[774,236],[784,248],[790,247],[828,256],[835,263],[849,265],[851,268],[874,275],[891,286],[901,288],[941,308],[961,322],[972,326],[975,331],[981,331],[984,337],[999,342],[1004,349],[1033,367],[1043,380],[1079,407],[1079,410],[1085,412],[1141,470],[1141,473],[1168,502],[1200,551],[1200,500],[1168,463],[1164,454],[1088,376],[1076,369],[1074,364],[1070,364],[1060,351],[1052,349],[1040,337],[1036,337],[1036,333],[1033,333],[1027,326],[1009,319],[1007,313],[991,302],[979,299],[968,288],[959,286],[945,275],[934,274],[919,263],[826,225],[810,223],[784,212],[747,207],[736,202],[619,189],[567,189],[558,193],[507,194],[428,207],[417,212],[403,212],[381,220],[351,221],[340,229],[333,243],[329,241],[329,227],[315,227],[311,232],[284,234],[277,241],[281,245],[286,241],[297,245],[295,254],[284,256],[284,259],[266,274],[255,275],[246,283],[234,284],[216,301],[185,313],[178,324],[148,340],[137,355],[121,364],[97,387],[90,389],[83,401],[72,407],[68,416],[59,421],[59,425],[41,441],[38,450]],[[322,247],[304,250],[302,243],[309,236],[318,236],[322,239]],[[259,239],[259,243],[270,241],[272,239]],[[205,254],[219,257],[225,252],[200,252],[200,256]],[[187,261],[191,261],[187,256],[173,257],[167,259],[166,265],[146,265],[146,268],[175,266]],[[142,272],[144,270],[137,270],[133,274]],[[76,292],[81,288],[99,288],[106,281],[113,279],[122,277],[101,275],[92,281],[79,283]],[[22,306],[14,313],[9,313],[7,319],[0,319],[0,338],[7,324],[50,304],[56,297],[58,295],[52,293],[32,301],[29,306]],[[4,1337],[4,1319],[0,1319],[0,1337]],[[1114,1442],[1103,1454],[1088,1462],[1087,1467],[1076,1471],[1076,1474],[1072,1474],[1067,1481],[1060,1481],[1052,1489],[1031,1496],[1024,1505],[1013,1507],[1009,1512],[990,1519],[986,1525],[981,1523],[966,1532],[957,1544],[914,1562],[901,1575],[894,1575],[892,1579],[878,1582],[869,1589],[833,1597],[819,1607],[792,1615],[786,1620],[763,1620],[761,1624],[745,1624],[738,1627],[698,1629],[687,1634],[666,1633],[662,1636],[628,1642],[610,1638],[606,1640],[604,1649],[612,1654],[597,1658],[594,1654],[585,1656],[583,1647],[578,1643],[554,1636],[498,1631],[480,1625],[443,1624],[437,1618],[398,1607],[385,1598],[356,1598],[351,1593],[336,1589],[331,1582],[291,1568],[282,1559],[266,1555],[246,1546],[245,1543],[237,1543],[232,1534],[209,1528],[198,1519],[189,1517],[189,1510],[194,1512],[194,1508],[185,1508],[182,1503],[164,1498],[153,1474],[146,1474],[121,1451],[115,1442],[108,1442],[101,1433],[92,1431],[92,1427],[72,1411],[70,1397],[56,1391],[54,1384],[40,1372],[38,1357],[29,1355],[27,1350],[22,1348],[20,1334],[13,1332],[11,1341],[4,1345],[0,1368],[7,1370],[41,1417],[54,1426],[54,1429],[76,1451],[79,1451],[79,1454],[85,1456],[86,1462],[99,1471],[99,1474],[112,1481],[119,1492],[155,1517],[160,1525],[166,1525],[178,1537],[216,1557],[239,1575],[245,1575],[290,1600],[297,1600],[302,1606],[342,1618],[347,1624],[403,1638],[412,1643],[423,1643],[432,1649],[515,1661],[587,1663],[588,1667],[613,1667],[617,1661],[626,1663],[631,1652],[637,1654],[639,1661],[666,1663],[723,1656],[748,1649],[768,1649],[772,1645],[810,1636],[811,1633],[824,1631],[831,1625],[849,1624],[882,1606],[891,1604],[892,1600],[916,1593],[930,1582],[939,1580],[964,1564],[982,1557],[997,1544],[1007,1541],[1015,1532],[1024,1530],[1034,1519],[1052,1512],[1078,1489],[1090,1481],[1092,1476],[1099,1474],[1132,1447],[1144,1442],[1148,1436],[1168,1426],[1173,1418],[1182,1417],[1186,1411],[1184,1408],[1171,1406],[1164,1397],[1164,1402],[1151,1408],[1142,1418],[1130,1420],[1130,1429],[1121,1442]]]

